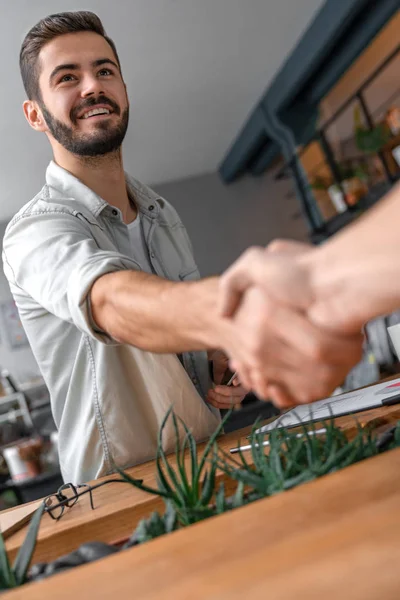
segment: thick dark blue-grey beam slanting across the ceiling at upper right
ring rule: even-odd
[[[284,121],[285,114],[315,110],[398,10],[399,0],[326,0],[232,144],[220,166],[222,179],[234,181],[247,170],[260,174],[274,158],[260,106],[269,106]],[[296,127],[294,134],[301,136]]]

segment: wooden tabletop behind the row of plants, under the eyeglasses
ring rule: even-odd
[[[395,405],[366,411],[360,413],[358,419],[361,423],[366,423],[381,416],[399,419],[400,407]],[[340,417],[336,419],[336,423],[346,430],[355,428],[353,416]],[[240,438],[242,438],[242,442],[246,443],[243,438],[249,431],[250,428],[246,428],[222,436],[219,439],[220,447],[229,451],[230,448],[237,445]],[[201,444],[200,450],[202,446]],[[174,464],[173,456],[170,457],[170,460],[171,464]],[[142,478],[145,484],[156,486],[154,461],[128,469],[128,472],[135,477]],[[112,477],[115,475],[93,483]],[[219,477],[221,478],[222,474],[219,474]],[[231,480],[228,481],[231,486],[234,485]],[[60,521],[56,522],[46,514],[43,516],[33,563],[54,560],[58,556],[75,550],[80,544],[87,541],[100,540],[110,543],[127,538],[132,534],[140,519],[148,517],[153,510],[163,510],[164,508],[159,498],[121,483],[110,483],[94,490],[93,499],[95,505],[93,511],[90,509],[89,498],[84,496],[71,509],[66,509]],[[26,512],[29,506],[28,504],[22,505],[1,512],[0,523],[3,526],[10,520],[17,519]],[[26,530],[27,526],[6,541],[11,559],[16,556],[25,538]]]

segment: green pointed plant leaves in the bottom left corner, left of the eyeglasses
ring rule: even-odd
[[[8,560],[7,550],[3,536],[0,533],[0,590],[18,587],[26,582],[29,565],[35,550],[40,520],[44,511],[44,503],[33,514],[29,524],[28,533],[19,549],[13,566]]]

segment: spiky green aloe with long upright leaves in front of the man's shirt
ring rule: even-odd
[[[145,492],[161,496],[166,503],[171,504],[181,525],[189,525],[210,517],[215,512],[210,503],[215,490],[218,463],[216,439],[222,432],[229,415],[230,412],[221,420],[208,440],[202,455],[198,456],[196,440],[190,429],[180,417],[176,416],[172,407],[167,411],[158,434],[157,488],[146,486],[116,468],[125,481]],[[163,431],[169,418],[172,419],[175,431],[174,456],[176,469],[171,465],[162,446]],[[181,439],[179,424],[182,425],[184,431],[183,440]],[[186,466],[186,450],[189,451],[190,468]]]

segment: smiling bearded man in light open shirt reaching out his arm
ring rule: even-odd
[[[212,389],[206,350],[240,340],[218,316],[217,278],[196,281],[174,208],[124,172],[129,102],[100,19],[43,19],[20,68],[26,119],[54,160],[7,228],[4,271],[50,391],[64,480],[81,483],[154,457],[172,403],[206,438],[218,408],[245,395]]]

